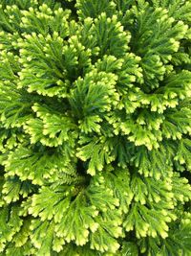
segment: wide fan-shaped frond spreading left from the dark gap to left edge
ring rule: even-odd
[[[67,175],[67,170],[70,170],[70,164],[67,168],[69,160],[64,157],[62,151],[36,151],[35,148],[19,147],[15,151],[11,151],[8,159],[4,161],[8,176],[18,175],[21,181],[32,180],[34,185],[42,185],[46,180],[52,177],[54,173],[66,174],[67,181],[71,174],[71,179],[75,177],[74,170]],[[59,162],[59,166],[57,163]],[[60,177],[59,176],[59,177]],[[62,176],[64,178],[64,175]],[[71,182],[71,180],[70,180]],[[70,183],[69,182],[69,183]]]

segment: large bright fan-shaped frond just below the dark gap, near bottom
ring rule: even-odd
[[[33,217],[40,217],[43,225],[53,224],[53,232],[60,241],[77,245],[88,242],[90,232],[95,232],[97,223],[95,217],[98,214],[96,207],[87,205],[83,194],[77,195],[76,188],[58,187],[53,189],[43,188],[39,195],[32,196],[32,206],[29,213]],[[48,221],[51,221],[50,224]],[[40,231],[39,231],[40,232]],[[37,234],[36,234],[37,236]],[[36,243],[39,238],[36,237]],[[62,245],[60,244],[60,245]]]

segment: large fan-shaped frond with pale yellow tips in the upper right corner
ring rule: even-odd
[[[186,34],[188,26],[182,21],[173,23],[174,18],[169,17],[164,8],[154,9],[143,4],[142,7],[134,6],[132,12],[137,24],[132,31],[134,52],[140,56],[157,54],[162,62],[168,62],[171,55],[178,51],[179,40]]]

